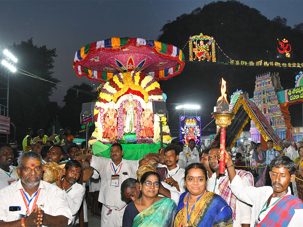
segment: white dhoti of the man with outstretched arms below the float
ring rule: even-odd
[[[122,226],[122,219],[126,205],[127,204],[125,204],[123,207],[117,207],[117,206],[107,206],[103,204],[101,210],[101,227]]]

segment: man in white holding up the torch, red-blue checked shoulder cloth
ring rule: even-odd
[[[242,183],[235,172],[231,156],[226,151],[225,163],[231,191],[252,205],[250,226],[302,226],[303,203],[291,195],[289,187],[289,183],[295,180],[294,161],[285,155],[275,157],[269,166],[272,186],[258,188]]]

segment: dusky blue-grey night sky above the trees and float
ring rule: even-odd
[[[86,77],[77,77],[72,67],[75,52],[80,48],[111,37],[156,40],[168,20],[173,21],[181,14],[188,14],[210,2],[0,1],[0,47],[14,42],[19,44],[33,37],[34,45],[57,49],[53,77],[58,78],[61,84],[72,86],[83,81],[92,84]],[[303,1],[240,2],[256,8],[270,20],[277,15],[285,17],[291,27],[303,22]],[[17,73],[15,76],[21,78],[25,75]],[[95,82],[94,87],[98,85]],[[67,88],[57,88],[51,100],[63,106]]]

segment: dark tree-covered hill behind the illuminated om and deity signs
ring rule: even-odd
[[[227,81],[227,94],[230,98],[236,89],[247,91],[249,97],[255,88],[255,77],[266,72],[279,72],[281,85],[287,89],[294,87],[295,75],[298,68],[240,66],[227,62],[239,61],[278,61],[303,62],[302,25],[291,28],[286,25],[287,20],[277,16],[273,20],[267,19],[257,9],[250,8],[237,1],[218,1],[196,8],[190,14],[182,14],[174,21],[168,21],[161,28],[162,34],[158,41],[173,44],[183,48],[186,63],[181,74],[168,81],[160,81],[161,89],[167,94],[167,103],[197,103],[202,106],[202,127],[212,119],[216,100],[221,96],[220,81],[223,77]],[[216,43],[217,63],[205,61],[189,61],[187,41],[191,35],[213,36]],[[286,38],[291,44],[293,58],[276,58],[278,41]],[[186,44],[186,45],[185,45]],[[224,62],[226,64],[218,64]],[[228,99],[229,99],[228,98]],[[173,109],[174,106],[168,105]],[[173,116],[175,110],[169,111]],[[205,115],[208,116],[205,116]],[[170,123],[178,127],[178,115]],[[213,122],[208,127],[215,128]]]

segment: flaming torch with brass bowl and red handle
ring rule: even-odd
[[[231,124],[231,119],[235,115],[234,112],[229,111],[229,104],[226,99],[226,81],[222,78],[221,85],[221,97],[217,100],[216,112],[211,113],[216,119],[216,125],[221,128],[220,138],[220,154],[223,160],[219,163],[219,173],[225,173],[225,154],[223,148],[225,148],[225,129]]]

